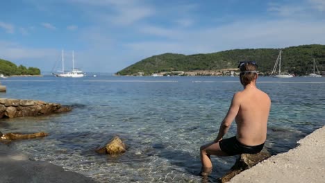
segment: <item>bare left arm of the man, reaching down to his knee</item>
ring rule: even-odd
[[[238,114],[240,107],[240,92],[233,95],[233,99],[231,100],[231,106],[229,107],[229,110],[224,117],[224,120],[220,124],[219,133],[217,138],[215,139],[215,142],[221,141],[222,137],[224,137],[224,134],[228,132],[231,123],[233,123],[233,119],[235,119],[235,116]]]

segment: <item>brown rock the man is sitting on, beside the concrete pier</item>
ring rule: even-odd
[[[235,175],[251,168],[269,157],[271,157],[271,155],[265,148],[257,154],[242,154],[238,157],[233,167],[231,167],[231,170],[219,179],[219,182],[228,182],[231,178],[235,177]]]

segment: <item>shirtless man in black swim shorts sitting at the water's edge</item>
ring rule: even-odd
[[[244,90],[233,96],[228,113],[222,121],[217,138],[201,146],[201,175],[209,175],[213,165],[210,155],[232,156],[242,153],[259,153],[267,137],[267,119],[271,100],[265,92],[256,87],[258,78],[255,62],[240,62],[240,82]],[[235,119],[237,134],[229,139],[222,139]]]

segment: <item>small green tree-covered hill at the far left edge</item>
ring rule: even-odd
[[[17,67],[16,64],[8,61],[0,59],[0,73],[4,76],[12,76],[12,75],[40,75],[40,69],[35,67],[24,67],[23,65],[19,65]]]

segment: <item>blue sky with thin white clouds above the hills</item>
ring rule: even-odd
[[[325,44],[325,0],[1,1],[0,58],[115,73],[163,53]]]

